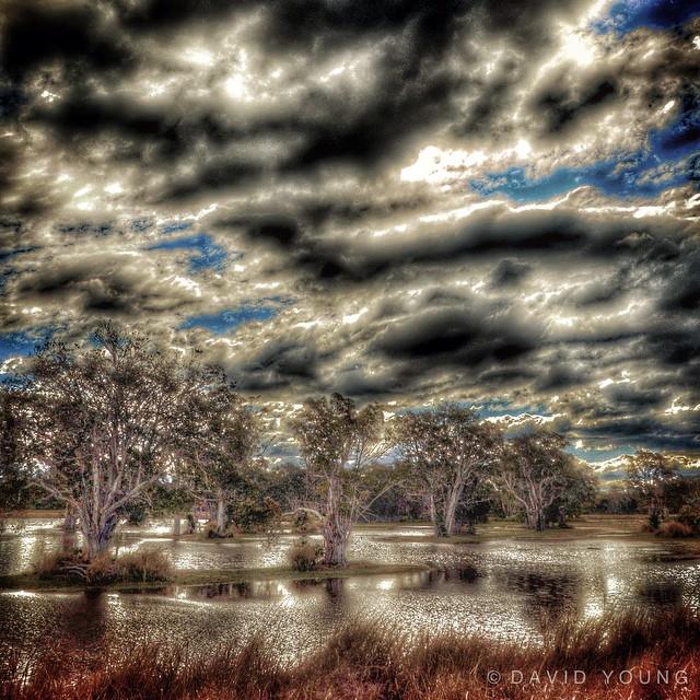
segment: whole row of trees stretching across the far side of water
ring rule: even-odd
[[[458,404],[389,413],[339,394],[310,398],[287,425],[301,465],[267,458],[269,420],[197,352],[103,324],[84,347],[48,343],[0,390],[0,509],[65,509],[86,559],[119,522],[149,514],[174,516],[177,533],[203,516],[214,537],[314,521],[325,563],[342,565],[362,521],[429,518],[450,537],[488,515],[541,530],[585,511],[645,508],[658,527],[697,500],[650,452],[630,459],[625,490],[602,493],[560,435],[506,440]]]

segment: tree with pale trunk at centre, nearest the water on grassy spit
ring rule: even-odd
[[[292,421],[317,499],[313,506],[322,520],[326,565],[346,564],[350,530],[371,499],[363,471],[387,450],[383,427],[384,413],[377,405],[358,410],[340,394],[307,400]]]

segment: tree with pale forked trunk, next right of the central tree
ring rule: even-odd
[[[456,404],[399,416],[393,441],[410,467],[409,488],[424,497],[438,537],[459,527],[459,506],[487,498],[480,487],[501,451],[501,432]]]

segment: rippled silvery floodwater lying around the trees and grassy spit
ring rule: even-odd
[[[0,573],[26,570],[60,546],[57,521],[9,523],[0,535]],[[244,542],[165,537],[168,524],[126,529],[121,551],[151,547],[179,569],[240,569],[284,563],[293,537]],[[236,645],[260,633],[293,658],[348,621],[380,621],[398,632],[457,631],[538,639],[546,620],[598,617],[637,606],[700,610],[698,550],[682,542],[633,539],[421,541],[428,527],[360,528],[349,557],[425,563],[430,571],[328,581],[253,581],[164,586],[133,593],[0,592],[0,635],[25,642],[60,630],[78,640],[186,641]]]

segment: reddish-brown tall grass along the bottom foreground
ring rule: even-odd
[[[664,634],[660,634],[660,630]],[[299,663],[281,664],[275,629],[243,645],[112,641],[77,648],[47,638],[0,641],[7,700],[698,700],[700,622],[638,611],[560,622],[541,645],[477,635],[412,642],[380,625],[350,625]],[[567,675],[564,675],[567,672]],[[578,675],[574,676],[574,672]],[[518,675],[514,675],[518,674]],[[657,675],[661,674],[661,675]],[[649,679],[649,680],[648,680]]]

